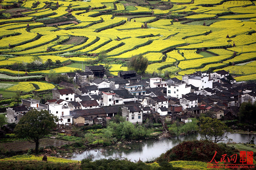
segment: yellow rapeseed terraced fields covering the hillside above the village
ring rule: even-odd
[[[20,8],[15,8],[17,3]],[[0,73],[6,79],[50,74],[48,59],[58,63],[55,73],[77,69],[62,65],[68,62],[96,65],[97,56],[106,51],[112,75],[127,70],[123,64],[142,54],[149,61],[148,74],[180,71],[174,74],[180,78],[195,70],[225,68],[241,76],[238,81],[256,80],[255,65],[230,66],[256,60],[256,7],[251,1],[3,0],[0,4]],[[213,55],[205,57],[201,51]],[[35,90],[31,83],[16,86]]]

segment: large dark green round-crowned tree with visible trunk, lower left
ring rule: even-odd
[[[56,127],[56,116],[47,110],[37,111],[33,109],[27,112],[18,122],[14,132],[19,138],[36,143],[36,154],[38,154],[39,139],[49,134],[50,130]]]

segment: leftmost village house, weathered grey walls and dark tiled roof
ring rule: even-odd
[[[18,107],[8,107],[6,109],[6,115],[8,123],[16,123],[20,121],[20,118],[24,116],[28,112],[26,106],[18,106]]]

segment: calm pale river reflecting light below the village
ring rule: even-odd
[[[254,135],[255,136],[255,135]],[[233,139],[235,143],[246,143],[248,141],[248,135],[234,133],[228,136]],[[251,139],[252,135],[249,135]],[[256,136],[255,136],[256,137]],[[120,145],[119,148],[113,146],[102,147],[99,149],[86,150],[79,154],[73,154],[72,160],[82,160],[83,158],[90,158],[92,161],[99,160],[102,158],[127,158],[133,162],[152,160],[165,153],[170,148],[178,145],[182,141],[191,141],[200,139],[198,134],[192,134],[187,136],[179,136],[179,138],[162,138],[162,139],[146,139],[142,142],[134,142],[130,144]],[[129,149],[130,148],[130,149]],[[95,152],[95,150],[97,152]],[[102,151],[102,152],[101,152]]]

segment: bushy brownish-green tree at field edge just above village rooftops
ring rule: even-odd
[[[145,73],[148,67],[148,59],[143,57],[142,54],[133,56],[127,63],[128,70],[134,70],[139,74]]]

